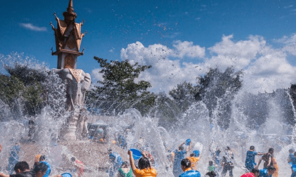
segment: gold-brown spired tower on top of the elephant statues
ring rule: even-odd
[[[64,20],[59,19],[56,14],[57,29],[50,23],[54,30],[56,52],[52,51],[52,55],[58,56],[57,69],[71,68],[76,69],[77,57],[83,55],[79,52],[82,37],[86,33],[81,33],[81,23],[75,23],[77,17],[73,8],[73,0],[69,1],[67,11],[63,13]]]

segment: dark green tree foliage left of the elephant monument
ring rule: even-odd
[[[9,75],[0,74],[0,100],[8,105],[16,118],[36,116],[46,105],[61,110],[56,107],[64,103],[65,87],[56,74],[46,67],[34,68],[18,62],[4,65],[4,68]],[[58,99],[62,101],[57,103]]]

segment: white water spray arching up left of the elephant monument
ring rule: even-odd
[[[19,72],[25,75],[38,73],[39,76],[44,77],[44,80],[39,82],[44,89],[45,97],[43,98],[44,107],[39,114],[28,115],[24,112],[25,103],[22,102],[22,97],[13,101],[13,106],[5,104],[0,100],[0,143],[2,145],[2,152],[0,153],[0,167],[1,172],[6,172],[8,164],[10,148],[17,144],[28,144],[35,142],[37,149],[23,149],[21,148],[19,159],[23,160],[26,152],[36,155],[43,153],[48,156],[48,161],[52,162],[53,167],[59,165],[60,159],[56,156],[56,143],[60,136],[60,130],[63,122],[68,117],[65,112],[65,84],[59,76],[49,70],[43,64],[39,64],[35,59],[29,59],[22,54],[14,53],[9,56],[1,56],[1,63],[3,68],[21,68]],[[2,73],[5,69],[2,68]],[[37,72],[35,72],[37,71]],[[22,93],[20,93],[22,95]],[[29,137],[30,125],[29,120],[33,120],[34,124],[31,128],[35,133],[33,137]],[[32,157],[34,159],[34,156]]]

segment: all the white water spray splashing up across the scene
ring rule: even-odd
[[[15,61],[20,58],[20,56],[11,56],[6,59],[14,59],[14,62],[9,61],[14,65]],[[1,59],[2,62],[8,63],[3,57]],[[48,91],[46,106],[42,108],[40,114],[34,117],[36,133],[33,140],[39,147],[36,149],[36,154],[44,153],[48,156],[52,168],[58,168],[62,154],[66,154],[67,158],[72,157],[67,146],[57,145],[63,122],[69,116],[65,112],[64,106],[66,102],[65,85],[56,74],[49,72],[49,69],[44,65],[38,65],[31,61],[18,61],[18,63],[44,71],[46,75],[46,80],[42,82]],[[202,175],[208,171],[208,161],[212,160],[211,152],[214,152],[216,147],[220,147],[221,154],[223,154],[226,146],[232,148],[235,155],[235,176],[242,175],[246,152],[253,145],[260,152],[266,152],[271,147],[275,148],[275,158],[280,167],[279,177],[290,176],[291,169],[287,164],[287,157],[289,148],[295,148],[294,141],[292,141],[295,128],[287,122],[285,115],[287,110],[292,111],[294,117],[296,114],[288,91],[276,92],[269,96],[252,96],[249,93],[239,92],[234,95],[234,98],[231,98],[232,96],[226,92],[221,99],[218,99],[211,114],[206,102],[212,100],[192,104],[171,129],[159,127],[159,118],[157,117],[142,117],[140,112],[135,109],[126,110],[124,114],[107,121],[110,124],[110,127],[107,128],[109,140],[115,140],[119,134],[126,133],[127,148],[140,148],[152,154],[155,160],[154,167],[159,177],[172,176],[172,162],[169,161],[167,155],[170,154],[170,150],[177,149],[188,138],[191,139],[193,147],[187,155],[196,149],[201,151],[201,159],[197,169]],[[257,100],[254,101],[254,98]],[[24,143],[28,140],[28,121],[32,119],[32,117],[22,114],[21,101],[15,101],[18,106],[10,109],[0,100],[0,143],[3,147],[0,153],[0,167],[2,172],[5,172],[7,166],[10,147],[19,141]],[[285,105],[283,103],[287,104],[287,108],[283,107]],[[229,105],[230,107],[227,107]],[[254,108],[250,107],[252,105],[257,108],[262,107],[256,113],[257,117],[255,115],[257,119],[252,119],[250,116],[254,116],[251,114],[254,111]],[[231,112],[226,113],[225,110],[229,108],[231,108]],[[223,116],[228,115],[230,115],[229,122],[227,122],[228,120],[223,121]],[[222,128],[221,124],[229,126]],[[127,129],[129,131],[126,131]],[[112,142],[108,142],[107,146],[111,147]],[[126,150],[123,151],[124,153],[120,155],[126,156]],[[24,156],[24,152],[21,152],[20,159],[22,156]],[[103,160],[108,161],[108,159]],[[92,167],[88,168],[92,169]]]

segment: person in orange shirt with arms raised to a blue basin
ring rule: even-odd
[[[157,172],[154,168],[151,167],[149,159],[146,157],[145,154],[142,153],[143,157],[139,159],[139,169],[137,169],[135,166],[133,152],[128,150],[127,154],[129,155],[129,160],[133,174],[136,177],[156,177]]]

